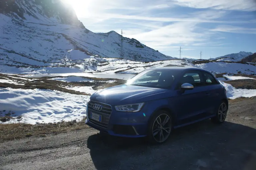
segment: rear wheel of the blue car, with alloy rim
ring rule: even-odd
[[[223,100],[219,104],[219,107],[216,109],[216,116],[211,118],[211,121],[217,124],[223,123],[226,119],[227,111],[228,111],[227,102]]]

